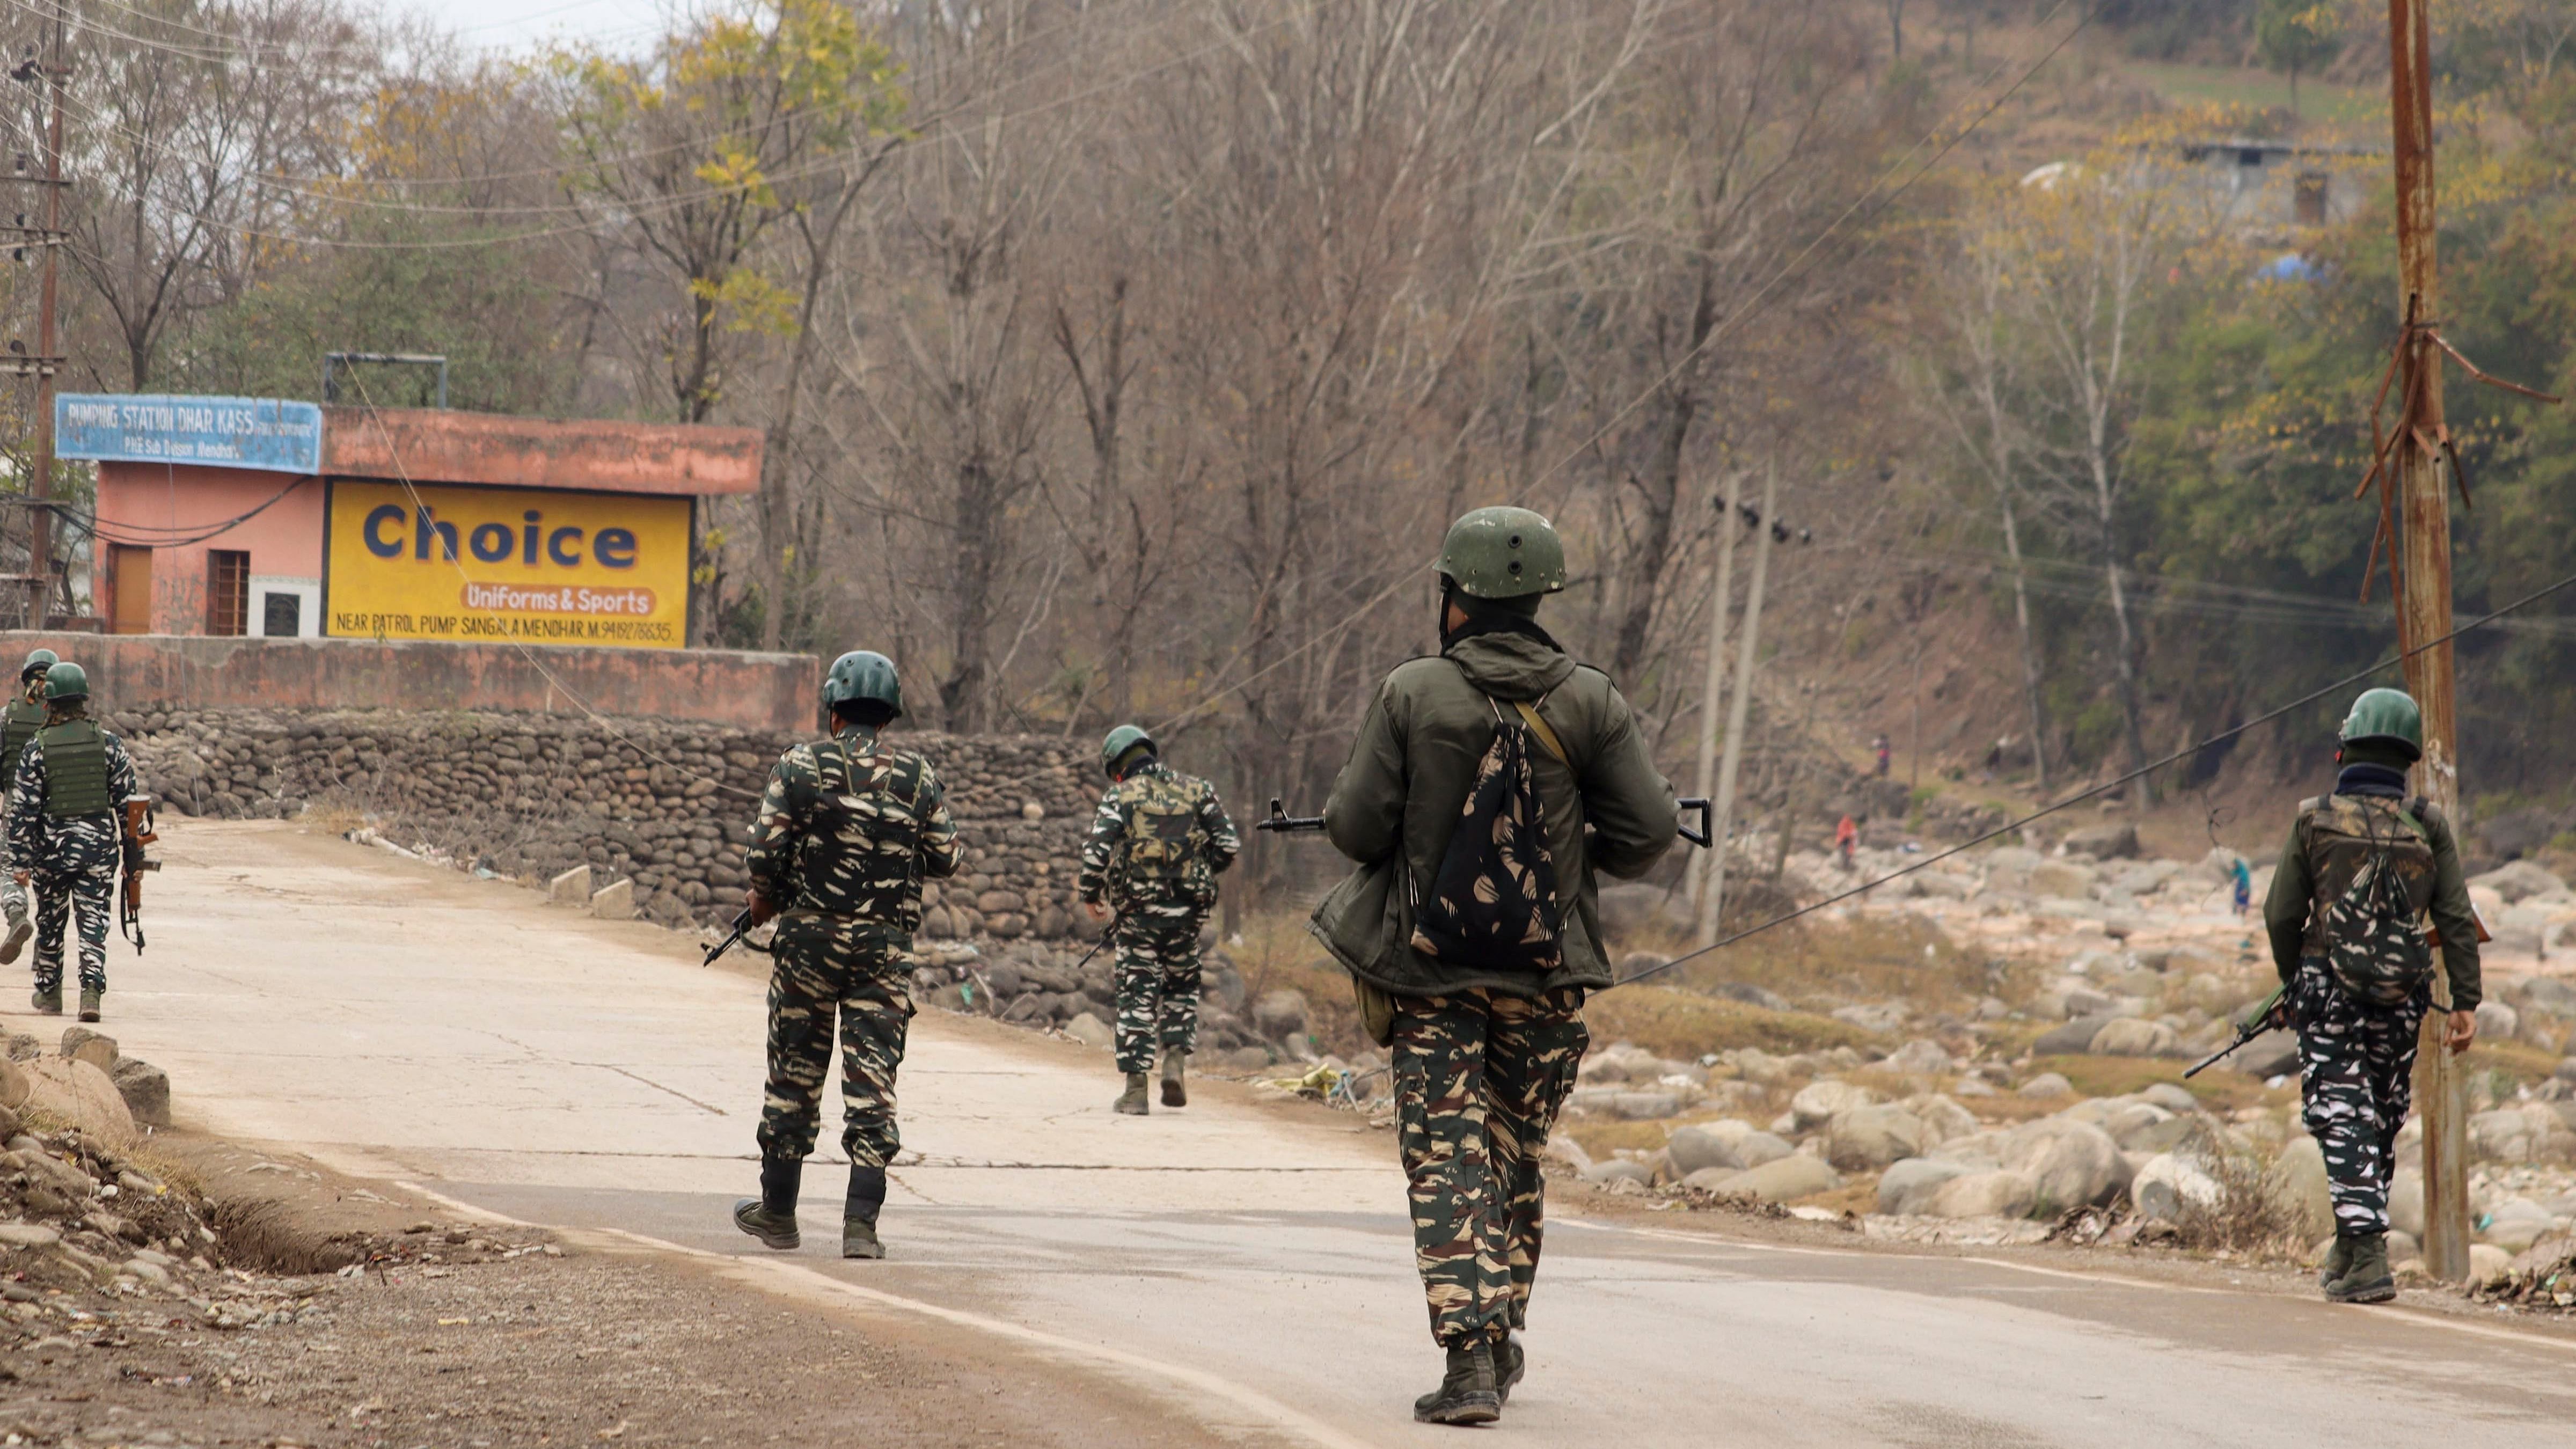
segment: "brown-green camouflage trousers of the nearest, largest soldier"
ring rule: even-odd
[[[1520,1328],[1546,1217],[1540,1150],[1592,1034],[1579,987],[1396,998],[1396,1145],[1443,1348]]]

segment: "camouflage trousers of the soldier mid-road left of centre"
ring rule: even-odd
[[[904,936],[829,915],[783,915],[770,941],[770,1080],[760,1098],[760,1155],[804,1158],[822,1132],[822,1080],[840,1016],[840,1145],[853,1163],[886,1165],[894,1070],[904,1062],[912,993]]]

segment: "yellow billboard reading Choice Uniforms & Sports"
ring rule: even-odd
[[[330,485],[325,632],[677,650],[688,498]]]

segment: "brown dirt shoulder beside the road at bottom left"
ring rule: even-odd
[[[90,1287],[0,1258],[10,1444],[1136,1444],[1218,1439],[1141,1390],[729,1261],[477,1222],[188,1132],[222,1263]],[[806,1245],[806,1250],[819,1250]],[[49,1284],[49,1287],[39,1287]]]

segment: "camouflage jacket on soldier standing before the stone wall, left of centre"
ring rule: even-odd
[[[958,828],[930,761],[848,727],[778,755],[742,864],[783,913],[912,933],[922,879],[958,869]]]

